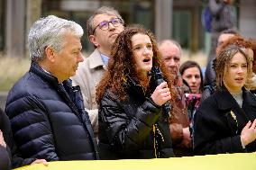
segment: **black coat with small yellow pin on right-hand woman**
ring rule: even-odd
[[[242,90],[242,108],[228,91],[216,91],[198,108],[194,122],[197,155],[256,151],[256,141],[242,148],[240,134],[248,121],[256,119],[256,98]]]

